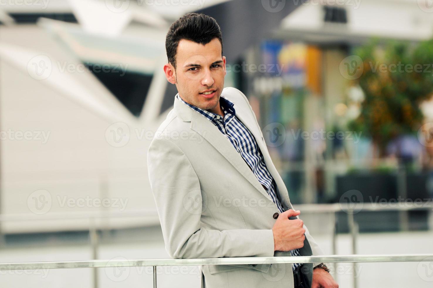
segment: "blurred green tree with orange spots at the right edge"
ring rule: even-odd
[[[355,80],[365,99],[349,128],[370,136],[379,156],[389,141],[416,134],[423,121],[422,101],[433,93],[433,40],[417,44],[378,40],[359,47],[363,70]]]

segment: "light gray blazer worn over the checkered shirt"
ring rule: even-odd
[[[234,103],[236,116],[262,151],[282,206],[292,208],[248,99],[232,87],[224,88],[221,97]],[[175,98],[147,157],[165,249],[172,258],[290,256],[274,252],[277,206],[209,119]],[[305,235],[301,255],[321,255],[308,230]],[[308,267],[311,273],[313,265]],[[291,264],[204,265],[201,270],[202,287],[293,287]]]

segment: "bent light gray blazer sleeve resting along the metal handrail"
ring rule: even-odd
[[[272,229],[219,231],[200,225],[204,205],[200,181],[187,156],[170,139],[152,140],[147,165],[165,249],[171,258],[274,255]],[[199,207],[193,210],[191,205]]]

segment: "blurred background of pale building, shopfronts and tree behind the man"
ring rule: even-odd
[[[168,258],[146,153],[171,110],[165,35],[223,32],[325,254],[431,253],[431,0],[0,0],[0,262]],[[0,271],[2,287],[150,287],[151,267]],[[431,287],[432,262],[338,263],[340,287]],[[158,267],[158,287],[198,287]]]

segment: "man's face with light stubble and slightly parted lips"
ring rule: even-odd
[[[221,56],[221,43],[217,38],[204,46],[181,39],[176,53],[175,71],[170,63],[164,66],[164,71],[167,80],[176,84],[179,96],[185,102],[214,113],[220,111],[226,57]],[[206,95],[204,92],[211,94]]]

